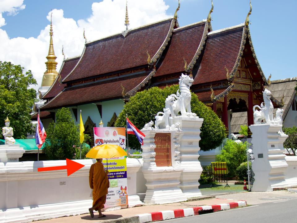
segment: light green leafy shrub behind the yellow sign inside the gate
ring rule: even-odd
[[[228,177],[236,176],[236,168],[247,160],[247,143],[237,143],[228,139],[223,147],[221,154],[217,155],[218,162],[226,162]]]

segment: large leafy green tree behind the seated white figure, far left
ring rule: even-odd
[[[26,138],[33,133],[31,124],[32,106],[36,102],[36,85],[32,72],[24,72],[21,65],[0,61],[0,123],[8,116],[14,138]],[[2,134],[0,136],[3,138]]]

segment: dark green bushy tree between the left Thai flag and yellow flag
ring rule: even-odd
[[[57,111],[56,122],[49,124],[46,134],[43,151],[50,160],[73,159],[75,147],[80,145],[80,133],[68,108]]]

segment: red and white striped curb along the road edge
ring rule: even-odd
[[[180,218],[180,217],[188,217],[198,215],[199,211],[201,210],[212,210],[213,212],[217,211],[225,211],[231,208],[241,208],[246,207],[246,201],[234,201],[230,203],[222,203],[222,204],[215,204],[215,205],[205,205],[193,208],[183,208],[183,209],[176,209],[170,211],[160,211],[160,212],[151,212],[147,214],[139,214],[139,220],[141,223],[150,222],[150,221],[161,221],[167,220],[172,218]]]

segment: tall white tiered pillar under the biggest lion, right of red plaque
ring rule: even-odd
[[[198,117],[183,117],[176,116],[173,118],[173,123],[180,123],[182,130],[179,139],[180,167],[184,168],[179,178],[180,189],[183,191],[187,199],[192,197],[202,196],[198,189],[200,183],[198,182],[202,173],[202,167],[199,162],[199,141],[200,128],[203,123],[202,118]]]

